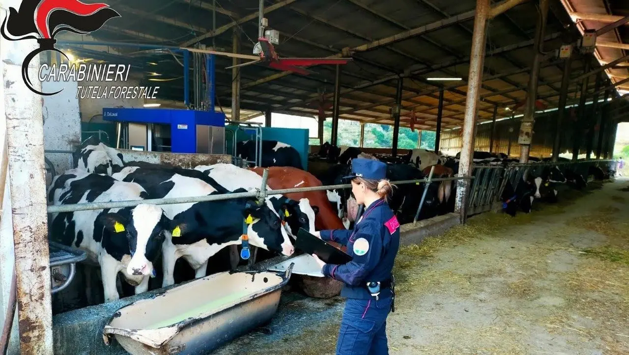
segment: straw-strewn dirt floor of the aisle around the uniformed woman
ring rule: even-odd
[[[401,249],[390,353],[629,354],[628,192],[629,178],[562,191]],[[341,298],[286,292],[279,307],[215,354],[334,353]]]

